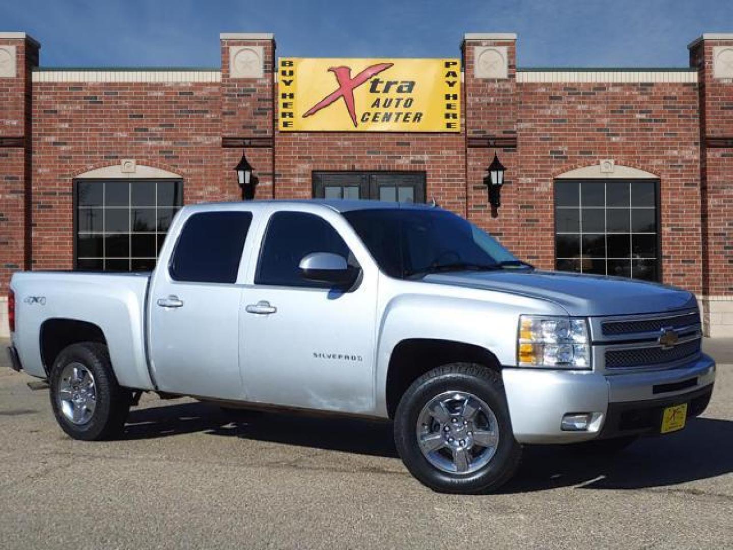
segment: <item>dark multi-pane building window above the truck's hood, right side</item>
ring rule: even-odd
[[[658,280],[656,180],[557,180],[555,268]]]

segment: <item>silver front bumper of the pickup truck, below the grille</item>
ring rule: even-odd
[[[715,362],[702,354],[683,367],[618,375],[504,367],[502,377],[517,441],[576,443],[658,432],[655,415],[668,405],[689,403],[688,416],[701,414],[712,394]],[[630,428],[634,411],[637,424]],[[588,430],[561,430],[565,414],[586,412],[596,413]]]

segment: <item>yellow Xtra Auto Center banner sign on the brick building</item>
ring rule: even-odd
[[[281,58],[280,131],[460,132],[459,59]]]

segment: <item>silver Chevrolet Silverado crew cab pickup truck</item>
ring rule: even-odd
[[[715,364],[696,298],[539,271],[441,208],[185,207],[152,274],[17,273],[10,356],[75,439],[141,392],[394,419],[436,491],[512,476],[523,444],[610,452],[701,414]]]

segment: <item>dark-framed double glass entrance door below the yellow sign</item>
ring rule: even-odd
[[[425,202],[425,173],[313,172],[313,197]]]

